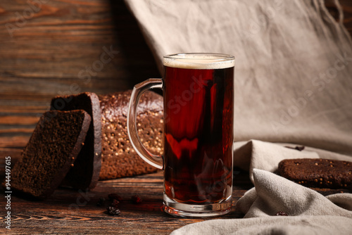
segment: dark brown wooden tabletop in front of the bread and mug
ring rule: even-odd
[[[234,204],[253,186],[246,172],[237,174],[235,185]],[[103,205],[96,205],[99,198],[108,198],[109,193],[118,193],[123,198],[118,216],[106,214],[106,206],[111,203],[108,199]],[[141,196],[142,203],[133,204],[130,198],[134,195]],[[102,181],[90,192],[58,189],[46,201],[26,201],[12,196],[13,217],[8,234],[169,234],[186,224],[209,220],[167,215],[161,210],[162,200],[162,172]],[[5,204],[1,196],[1,207]],[[234,207],[229,215],[220,218],[239,217],[243,215]],[[0,222],[4,224],[3,212]]]

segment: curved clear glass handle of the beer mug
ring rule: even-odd
[[[133,87],[130,104],[127,113],[127,132],[130,137],[131,144],[138,155],[147,163],[158,169],[163,169],[163,157],[149,152],[142,144],[137,134],[137,106],[139,99],[144,91],[153,88],[163,89],[163,80],[161,78],[149,78]]]

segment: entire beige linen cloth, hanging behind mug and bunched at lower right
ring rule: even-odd
[[[323,0],[125,2],[161,72],[170,53],[236,57],[234,165],[250,171],[256,189],[239,201],[245,219],[190,224],[175,234],[351,234],[351,207],[337,209],[350,194],[322,198],[270,173],[284,158],[352,160],[352,43],[339,1],[338,20]],[[297,144],[307,147],[282,146]],[[309,203],[315,206],[302,212]],[[294,216],[268,216],[280,208]]]

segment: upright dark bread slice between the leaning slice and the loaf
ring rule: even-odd
[[[96,186],[101,168],[101,111],[94,93],[57,96],[51,100],[51,110],[85,110],[92,118],[87,137],[75,165],[65,176],[61,186],[89,190]]]

